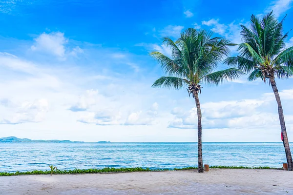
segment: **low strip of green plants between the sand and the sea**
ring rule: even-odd
[[[227,166],[210,166],[210,169],[283,169],[283,168],[271,168],[271,167],[227,167]],[[94,174],[94,173],[115,173],[115,172],[146,172],[146,171],[179,171],[179,170],[190,170],[197,169],[197,167],[186,167],[180,169],[149,169],[149,168],[110,168],[104,169],[74,169],[74,170],[55,170],[53,174]],[[27,172],[0,172],[0,176],[21,176],[21,175],[49,175],[49,171],[27,171]]]

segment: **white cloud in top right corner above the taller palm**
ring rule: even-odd
[[[265,14],[273,10],[276,17],[281,16],[284,12],[292,7],[293,0],[275,0],[270,3],[270,6],[265,10]]]

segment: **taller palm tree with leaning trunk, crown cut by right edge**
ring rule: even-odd
[[[289,78],[293,76],[293,47],[287,48],[283,34],[283,20],[278,22],[272,12],[257,18],[251,15],[251,26],[241,25],[242,42],[238,46],[239,56],[225,60],[228,65],[238,66],[239,69],[250,73],[248,80],[261,78],[269,81],[278,104],[281,124],[281,135],[285,147],[288,169],[293,170],[292,156],[286,132],[283,108],[276,86],[275,78]]]

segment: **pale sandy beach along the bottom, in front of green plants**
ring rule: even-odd
[[[288,193],[287,193],[287,192]],[[0,177],[1,195],[293,195],[293,172],[211,169]]]

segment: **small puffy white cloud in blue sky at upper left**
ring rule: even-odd
[[[35,44],[31,46],[31,49],[33,51],[42,51],[62,58],[65,55],[64,44],[67,42],[68,39],[65,39],[64,33],[42,33],[35,39]]]

